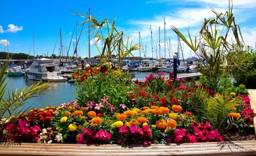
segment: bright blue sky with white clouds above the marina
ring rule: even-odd
[[[0,51],[7,52],[6,43],[9,43],[9,52],[26,53],[33,55],[33,31],[35,33],[35,55],[52,53],[59,55],[59,41],[54,45],[62,30],[65,45],[69,47],[72,32],[76,21],[78,25],[84,19],[75,16],[70,10],[87,14],[91,8],[91,14],[97,19],[104,16],[113,20],[116,17],[116,27],[124,31],[125,37],[130,37],[133,43],[139,43],[138,32],[141,32],[144,53],[152,57],[152,46],[150,36],[150,25],[152,26],[153,56],[159,57],[158,29],[160,27],[161,56],[164,55],[164,17],[167,39],[171,41],[171,49],[177,51],[177,35],[170,29],[176,26],[186,33],[185,27],[189,27],[192,34],[200,30],[204,18],[214,17],[210,7],[218,13],[228,10],[228,0],[119,0],[119,1],[89,1],[89,0],[2,0],[0,16]],[[233,0],[233,13],[236,24],[239,24],[246,45],[255,46],[256,42],[256,1],[255,0]],[[78,28],[80,32],[81,27]],[[94,34],[92,33],[91,36]],[[93,39],[93,37],[91,37]],[[64,42],[63,41],[63,42]],[[73,40],[74,41],[74,40]],[[78,55],[88,56],[88,32],[84,30],[78,44]],[[64,43],[63,43],[64,44]],[[183,47],[183,43],[182,47]],[[169,46],[169,44],[168,44]],[[73,42],[69,55],[73,55]],[[147,48],[145,48],[147,47]],[[157,49],[157,51],[156,51]],[[53,52],[54,50],[54,52]],[[184,58],[193,52],[184,45]],[[166,43],[166,58],[169,58]],[[99,54],[95,45],[91,45],[91,56]],[[133,53],[139,56],[139,51]],[[172,57],[172,54],[170,54]]]

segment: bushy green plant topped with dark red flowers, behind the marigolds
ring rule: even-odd
[[[106,69],[106,71],[103,72],[102,69]],[[89,70],[93,74],[89,74],[87,72]],[[128,102],[127,92],[130,88],[131,76],[127,72],[103,65],[100,69],[97,67],[87,68],[85,72],[78,71],[78,73],[80,78],[87,77],[82,82],[76,82],[75,94],[78,96],[77,100],[81,106],[86,106],[86,103],[91,100],[98,103],[103,96],[108,97],[109,102],[115,105]]]

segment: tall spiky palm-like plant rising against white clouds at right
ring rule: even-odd
[[[211,84],[214,91],[217,91],[217,85],[221,75],[234,75],[234,69],[245,69],[245,59],[236,60],[237,52],[234,51],[232,45],[228,43],[228,36],[233,36],[236,44],[241,49],[241,36],[239,25],[235,23],[232,13],[232,4],[229,5],[229,10],[226,13],[217,13],[212,10],[216,17],[209,20],[204,20],[202,29],[195,36],[194,41],[188,30],[189,40],[175,27],[171,29],[195,52],[201,59],[205,60],[207,65],[200,65],[201,72]],[[235,56],[235,57],[234,57]]]

